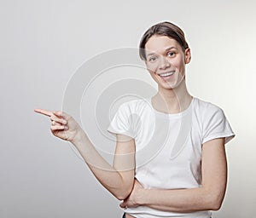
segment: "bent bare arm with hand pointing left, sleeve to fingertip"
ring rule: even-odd
[[[96,179],[114,197],[123,200],[129,196],[134,183],[134,139],[126,135],[117,135],[112,166],[96,151],[84,130],[67,113],[49,112],[43,109],[35,109],[35,112],[49,116],[52,121],[52,134],[73,143]]]

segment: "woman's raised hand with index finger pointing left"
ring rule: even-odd
[[[34,109],[34,112],[48,116],[51,120],[51,133],[62,140],[73,142],[82,130],[79,123],[65,112],[51,112],[44,109]]]

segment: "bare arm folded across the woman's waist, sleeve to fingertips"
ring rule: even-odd
[[[148,206],[172,212],[218,210],[223,202],[227,181],[224,139],[207,141],[202,146],[202,185],[190,189],[144,189],[137,181],[121,207]]]

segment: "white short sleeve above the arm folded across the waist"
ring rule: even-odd
[[[217,138],[224,138],[226,144],[235,137],[224,112],[218,106],[210,105],[204,114],[202,144]]]

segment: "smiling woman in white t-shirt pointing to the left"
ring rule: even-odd
[[[49,116],[52,133],[71,141],[102,186],[123,200],[124,217],[211,217],[224,199],[224,144],[234,133],[218,106],[189,95],[185,66],[191,54],[178,26],[162,22],[150,27],[141,40],[140,57],[158,92],[119,107],[108,128],[117,137],[113,166],[72,117],[35,112]],[[142,150],[154,155],[142,161],[137,155]]]

